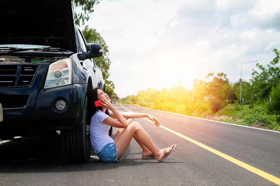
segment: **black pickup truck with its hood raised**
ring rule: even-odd
[[[87,43],[73,23],[70,0],[0,0],[0,139],[60,131],[65,160],[87,162],[87,91],[105,91]]]

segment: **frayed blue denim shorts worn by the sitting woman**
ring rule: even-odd
[[[101,161],[120,162],[121,160],[118,160],[117,150],[115,143],[108,143],[97,155]]]

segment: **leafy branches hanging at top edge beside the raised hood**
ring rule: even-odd
[[[93,6],[98,3],[99,0],[71,0],[74,23],[80,26],[82,21],[82,24],[85,24],[89,14],[93,12]]]

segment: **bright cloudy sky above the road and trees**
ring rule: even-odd
[[[85,25],[109,46],[108,80],[123,98],[178,82],[191,90],[212,72],[235,83],[242,63],[273,60],[279,21],[278,0],[100,0]],[[242,80],[253,69],[256,62],[243,64]]]

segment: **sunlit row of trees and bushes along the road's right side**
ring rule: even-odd
[[[280,68],[279,51],[274,49],[275,58],[267,65],[257,63],[258,71],[252,71],[249,81],[242,80],[242,105],[250,105],[243,116],[248,125],[277,125],[280,120]],[[120,99],[122,103],[134,103],[195,117],[213,115],[225,105],[233,103],[242,109],[240,102],[240,80],[231,83],[223,72],[208,73],[204,80],[193,80],[192,90],[187,90],[178,82],[169,90],[154,88],[141,90],[137,95]],[[276,127],[277,128],[277,127]],[[274,127],[275,129],[275,127]]]

